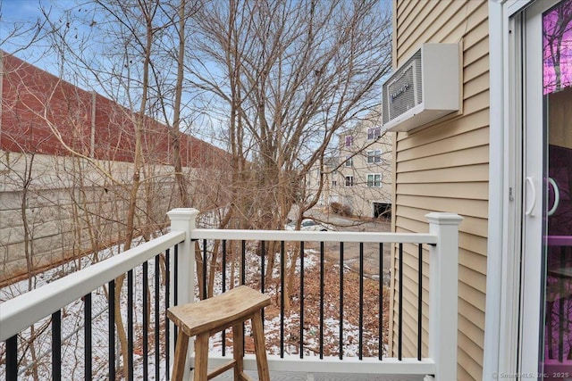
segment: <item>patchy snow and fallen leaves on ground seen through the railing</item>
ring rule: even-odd
[[[117,248],[112,248],[110,250],[106,250],[104,252],[98,253],[99,260],[109,257],[118,253],[119,250]],[[247,262],[247,284],[251,284],[254,288],[260,287],[260,257],[255,253],[254,247],[250,247],[247,251],[246,255],[246,262]],[[240,257],[240,255],[238,256]],[[299,257],[299,256],[298,256]],[[290,261],[290,254],[286,255],[287,261]],[[42,274],[38,274],[37,277],[33,278],[32,282],[28,282],[28,280],[18,282],[11,286],[6,286],[0,289],[0,302],[6,301],[15,297],[18,294],[23,294],[28,291],[29,285],[30,288],[37,288],[43,286],[50,281],[58,278],[63,277],[70,272],[84,268],[91,263],[90,257],[85,257],[81,261],[73,261],[65,265],[61,265],[56,267],[55,269],[50,269]],[[276,254],[276,263],[280,261],[280,254]],[[148,278],[149,278],[149,286],[153,287],[155,280],[155,261],[149,261],[148,264]],[[220,265],[220,262],[219,262]],[[287,263],[287,269],[289,268],[290,263]],[[240,268],[240,258],[236,258],[235,262],[235,271],[238,271]],[[275,266],[273,269],[273,277],[274,279],[278,279],[280,276],[280,267]],[[304,355],[305,356],[314,356],[318,354],[319,348],[319,319],[317,318],[318,310],[316,307],[316,303],[312,302],[315,301],[319,296],[319,255],[312,250],[305,251],[304,255],[304,272],[305,272],[305,328],[304,328]],[[238,285],[240,277],[235,274],[232,277],[231,274],[231,266],[227,264],[227,289],[230,285],[230,279],[235,279],[235,285]],[[296,278],[299,279],[299,271],[300,271],[300,261],[299,258],[296,263]],[[336,275],[337,272],[339,274],[339,267],[329,266],[327,268],[328,273],[326,277],[332,277],[336,279],[339,275]],[[349,269],[344,269],[344,277],[346,277],[346,273],[349,274]],[[134,325],[135,329],[135,338],[134,338],[134,374],[135,379],[143,379],[143,365],[142,365],[142,358],[140,356],[141,353],[141,327],[142,327],[142,295],[143,295],[143,287],[142,287],[142,269],[138,267],[137,269],[133,270],[134,275]],[[348,280],[345,282],[355,282],[355,279],[352,280],[351,277],[347,277]],[[327,283],[331,283],[330,278],[326,278]],[[122,305],[126,306],[127,304],[127,292],[126,292],[126,285],[127,279],[125,279],[123,285],[123,292],[122,292]],[[198,283],[197,283],[197,290],[196,295],[198,295]],[[214,277],[214,294],[220,294],[223,291],[223,277],[222,272],[217,271],[216,276]],[[355,288],[355,285],[348,283],[344,283],[344,295],[345,287],[348,286],[349,289]],[[338,286],[339,287],[339,286]],[[92,329],[93,329],[93,348],[92,348],[92,361],[93,361],[93,378],[94,379],[106,379],[108,377],[108,339],[109,339],[109,332],[108,332],[108,311],[107,311],[107,299],[106,299],[106,287],[99,287],[92,293]],[[161,292],[159,294],[160,305],[164,306],[164,287],[161,287]],[[299,290],[299,284],[295,285],[295,289]],[[328,291],[326,291],[328,292]],[[280,282],[273,281],[270,284],[265,286],[265,293],[269,294],[274,301],[274,303],[280,302]],[[315,294],[318,293],[318,296]],[[151,300],[149,301],[150,305],[155,305],[154,293],[151,293]],[[291,308],[290,311],[284,316],[283,319],[283,327],[284,327],[284,352],[290,354],[299,354],[299,294],[294,292],[291,298]],[[370,295],[376,300],[376,295]],[[339,293],[336,292],[329,292],[328,295],[324,296],[324,314],[326,319],[324,319],[324,355],[335,355],[337,356],[337,351],[339,348],[339,334],[340,334],[340,321],[339,321]],[[84,371],[84,356],[83,356],[83,343],[84,343],[84,319],[83,319],[83,311],[84,311],[84,302],[78,300],[76,302],[72,302],[70,305],[66,306],[62,311],[63,317],[63,326],[62,326],[62,336],[63,336],[63,344],[62,344],[62,358],[63,358],[63,377],[68,379],[82,379],[83,378],[83,371]],[[271,308],[274,307],[274,308]],[[343,343],[343,354],[344,357],[351,357],[357,356],[359,351],[358,349],[358,341],[357,337],[359,335],[359,327],[357,326],[356,320],[356,311],[352,310],[350,305],[344,307],[345,309],[349,309],[349,311],[344,310],[344,323],[343,323],[343,334],[342,334],[342,343]],[[153,310],[152,310],[153,311]],[[127,311],[126,308],[122,309],[122,316],[123,320],[127,320]],[[280,353],[280,332],[281,332],[281,319],[280,319],[280,307],[279,306],[270,306],[265,310],[265,337],[266,337],[266,344],[268,348],[269,354],[279,354]],[[374,316],[371,317],[374,321],[377,319],[377,315],[374,313]],[[349,321],[352,320],[352,321]],[[27,329],[26,331],[22,332],[21,337],[19,338],[19,348],[27,347],[25,351],[25,355],[21,359],[21,374],[19,379],[34,379],[35,376],[38,379],[49,379],[51,378],[51,327],[49,327],[49,317],[39,321],[33,329]],[[164,314],[161,314],[161,318],[159,321],[161,327],[164,325]],[[150,326],[155,327],[155,315],[151,312],[150,315]],[[153,328],[151,328],[153,329]],[[247,352],[248,352],[248,336],[250,335],[249,326],[247,324],[245,328],[245,333],[247,335]],[[162,329],[161,332],[164,330]],[[370,330],[364,331],[364,343],[366,346],[365,353],[374,352],[378,346],[378,333],[377,332],[370,332]],[[38,332],[41,334],[38,335]],[[33,344],[27,344],[29,341],[29,337],[31,335],[38,335],[36,340]],[[153,335],[153,332],[150,332],[150,335]],[[229,335],[229,333],[227,333]],[[231,345],[229,345],[227,336],[227,353],[231,353]],[[152,337],[151,337],[152,338]],[[163,337],[162,337],[163,339]],[[116,339],[117,340],[117,339]],[[155,377],[155,342],[151,342],[149,344],[149,374],[151,377]],[[165,374],[165,363],[164,363],[164,340],[162,340],[162,347],[161,352],[163,356],[161,357],[161,363],[159,367],[161,369],[161,374],[164,377]],[[218,334],[215,335],[213,339],[211,339],[211,350],[213,352],[222,352],[222,335]],[[117,346],[115,352],[117,353],[117,369],[120,369],[120,349]],[[5,344],[0,343],[0,355],[1,358],[5,360]],[[19,350],[19,357],[22,356],[22,350]],[[371,354],[372,356],[377,356],[377,354]],[[32,360],[35,359],[35,360]],[[5,361],[0,361],[0,378],[5,376]],[[36,367],[33,365],[36,364]],[[34,371],[37,372],[36,375]]]

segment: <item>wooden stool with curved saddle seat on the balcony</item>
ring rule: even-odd
[[[235,380],[250,380],[244,373],[242,363],[244,340],[242,323],[251,319],[258,378],[260,381],[270,381],[268,361],[266,360],[265,335],[262,327],[262,310],[269,304],[270,296],[261,294],[248,286],[239,286],[200,302],[171,307],[167,311],[167,317],[179,327],[172,379],[174,381],[182,380],[189,337],[196,335],[195,381],[206,381],[231,368],[234,368]],[[208,338],[227,327],[232,327],[234,359],[208,373]],[[223,345],[224,340],[223,337]]]

